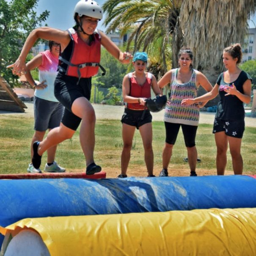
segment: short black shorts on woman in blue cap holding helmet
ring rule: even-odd
[[[144,112],[145,111],[145,112]],[[124,109],[124,114],[121,118],[121,122],[135,126],[139,129],[143,124],[151,123],[152,116],[148,109],[146,110],[132,110],[129,108]]]

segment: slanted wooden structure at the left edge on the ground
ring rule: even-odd
[[[14,93],[11,86],[0,76],[0,110],[25,112],[28,108]]]

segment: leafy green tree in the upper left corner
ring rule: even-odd
[[[6,66],[13,63],[28,34],[41,26],[49,16],[49,11],[36,15],[39,0],[0,0],[0,75],[11,85],[17,80]]]

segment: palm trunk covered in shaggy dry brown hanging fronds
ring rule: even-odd
[[[193,50],[195,68],[209,77],[221,72],[223,49],[244,42],[248,18],[255,10],[255,0],[183,1],[179,16],[183,44]]]

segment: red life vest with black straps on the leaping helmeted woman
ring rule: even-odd
[[[59,57],[60,61],[66,63],[66,75],[72,77],[86,78],[98,73],[100,61],[101,36],[95,31],[94,41],[86,44],[73,28],[68,30],[73,41],[72,54],[69,60]],[[65,51],[65,50],[64,50]]]

